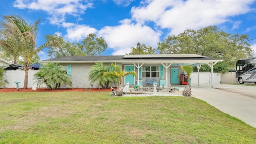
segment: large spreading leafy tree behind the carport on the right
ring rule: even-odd
[[[208,26],[199,30],[186,29],[178,36],[167,36],[158,43],[158,50],[160,54],[199,54],[220,58],[224,63],[218,62],[218,65],[227,71],[235,68],[236,60],[252,56],[252,49],[246,41],[247,35],[227,34],[216,26]]]

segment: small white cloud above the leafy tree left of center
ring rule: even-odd
[[[97,30],[95,28],[91,28],[86,25],[75,25],[67,28],[67,34],[64,36],[70,42],[79,42],[83,40],[88,34],[96,33]]]

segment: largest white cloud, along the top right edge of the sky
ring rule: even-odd
[[[133,7],[132,19],[138,22],[152,21],[161,28],[171,29],[179,34],[187,28],[198,29],[205,26],[229,22],[230,16],[250,11],[250,0],[150,0],[144,6]]]

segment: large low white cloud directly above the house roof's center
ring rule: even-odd
[[[135,46],[138,42],[154,48],[159,42],[160,35],[150,27],[140,24],[106,26],[98,32],[98,36],[105,38],[108,47],[115,50],[113,55],[129,53],[130,47]]]

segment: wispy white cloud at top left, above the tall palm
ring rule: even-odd
[[[86,3],[86,4],[83,4]],[[16,0],[14,7],[28,10],[42,10],[48,13],[51,24],[60,26],[66,15],[79,16],[92,3],[83,0]]]

